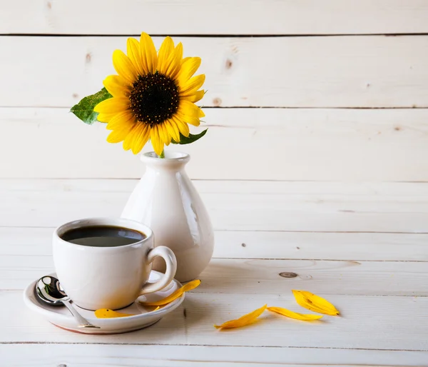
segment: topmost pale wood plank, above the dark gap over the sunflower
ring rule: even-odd
[[[383,34],[427,33],[417,0],[3,1],[8,34]],[[142,21],[143,20],[143,21]],[[143,28],[142,28],[143,27]]]

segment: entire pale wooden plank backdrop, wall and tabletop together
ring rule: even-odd
[[[426,364],[427,19],[424,0],[0,0],[0,360]],[[203,58],[208,134],[170,149],[192,155],[214,258],[151,333],[65,333],[22,289],[52,271],[55,226],[118,216],[143,173],[105,125],[68,113],[141,31]],[[242,307],[299,311],[290,289],[305,287],[342,317],[212,327]]]

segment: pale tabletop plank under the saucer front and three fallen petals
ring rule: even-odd
[[[84,336],[56,328],[26,310],[21,292],[0,293],[1,342],[135,343],[141,345],[276,346],[428,351],[427,297],[329,296],[342,311],[317,323],[265,313],[247,328],[221,332],[214,323],[264,303],[302,311],[292,296],[188,293],[180,308],[143,331]],[[186,310],[186,317],[183,310]],[[330,351],[330,349],[329,349]],[[305,353],[305,352],[303,352]]]

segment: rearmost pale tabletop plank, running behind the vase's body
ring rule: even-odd
[[[428,183],[195,184],[216,230],[428,232]],[[0,223],[52,227],[76,218],[120,216],[134,185],[133,180],[1,180]]]

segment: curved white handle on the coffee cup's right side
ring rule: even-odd
[[[173,251],[171,251],[170,248],[166,246],[158,246],[152,248],[150,251],[148,251],[148,263],[153,263],[155,258],[157,258],[158,256],[161,256],[161,258],[165,260],[165,274],[163,274],[163,277],[155,283],[144,284],[143,288],[141,289],[140,296],[146,293],[160,291],[162,288],[165,288],[165,286],[168,286],[168,284],[173,280],[175,276],[175,271],[177,271],[177,259],[175,258]]]

